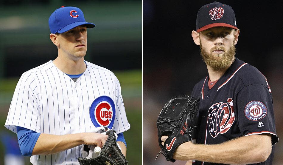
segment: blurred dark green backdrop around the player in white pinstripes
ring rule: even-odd
[[[48,18],[61,6],[79,7],[86,21],[96,24],[88,29],[85,60],[113,71],[119,79],[131,124],[124,133],[127,159],[131,165],[140,165],[141,0],[0,0],[0,164],[4,157],[9,165],[30,164],[29,157],[23,158],[17,150],[16,134],[4,123],[21,74],[57,57],[57,47],[49,39]]]

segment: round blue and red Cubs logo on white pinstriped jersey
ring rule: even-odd
[[[115,104],[109,96],[100,96],[95,99],[89,109],[89,115],[95,127],[112,129],[115,120]]]

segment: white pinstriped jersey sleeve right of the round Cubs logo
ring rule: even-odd
[[[124,132],[130,129],[130,124],[127,120],[125,106],[121,94],[121,86],[118,79],[115,77],[115,97],[116,97],[116,120],[114,128],[116,133]]]

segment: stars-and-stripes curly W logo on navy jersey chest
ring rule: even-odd
[[[235,121],[234,103],[232,98],[227,99],[227,103],[213,104],[208,111],[209,133],[215,138],[219,133],[226,133]]]

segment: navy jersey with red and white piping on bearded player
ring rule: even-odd
[[[198,82],[192,92],[195,98],[201,94],[196,143],[220,144],[263,133],[271,134],[272,145],[277,143],[271,90],[259,70],[236,58],[210,90],[208,79],[209,76]],[[271,164],[273,155],[274,146],[269,158],[258,164]]]

